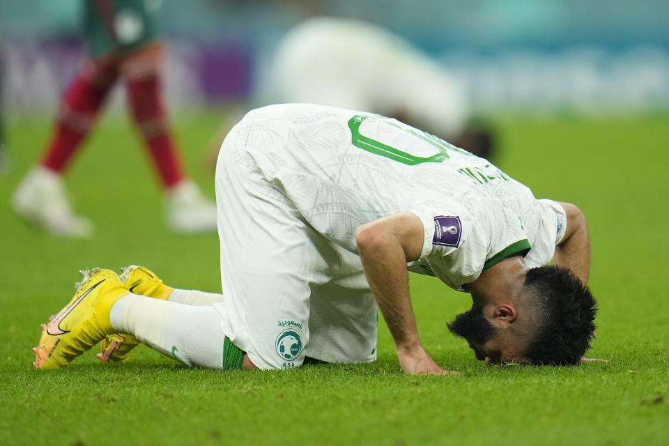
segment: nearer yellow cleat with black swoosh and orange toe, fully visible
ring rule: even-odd
[[[33,348],[38,369],[65,367],[116,331],[109,322],[109,311],[114,302],[128,295],[128,289],[111,270],[93,268],[82,271],[82,276],[70,303],[42,325],[40,343]]]

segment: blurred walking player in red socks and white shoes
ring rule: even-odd
[[[59,236],[91,236],[93,224],[72,211],[61,177],[93,128],[112,87],[122,80],[130,114],[164,189],[167,226],[177,232],[215,231],[215,204],[187,178],[169,132],[161,92],[164,49],[157,40],[155,10],[139,0],[83,3],[83,31],[90,57],[63,96],[42,159],[13,195],[15,211]]]

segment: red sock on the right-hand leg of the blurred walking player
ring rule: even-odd
[[[181,160],[167,130],[160,97],[160,77],[145,75],[125,82],[134,121],[141,130],[164,187],[176,185],[184,178]]]

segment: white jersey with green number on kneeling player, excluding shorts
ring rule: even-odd
[[[245,124],[249,154],[318,233],[357,254],[359,226],[413,212],[425,238],[412,270],[429,267],[454,289],[509,247],[535,245],[530,266],[544,265],[564,234],[560,206],[536,200],[488,160],[394,119],[277,105],[251,112]]]

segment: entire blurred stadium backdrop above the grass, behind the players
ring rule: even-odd
[[[169,43],[165,74],[173,112],[227,100],[259,105],[254,79],[263,75],[282,34],[316,6],[405,36],[463,79],[479,112],[669,109],[666,0],[150,3]],[[73,37],[80,4],[0,0],[10,115],[55,109],[83,54]],[[113,109],[121,102],[119,90]]]

